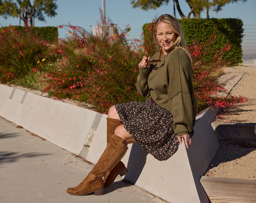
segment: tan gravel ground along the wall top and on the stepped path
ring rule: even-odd
[[[228,93],[230,92],[233,96],[246,97],[248,101],[221,109],[214,122],[256,123],[256,66],[226,67],[223,68],[223,71],[224,75],[219,80],[225,82]],[[37,90],[20,86],[13,87],[44,97],[48,96]],[[90,109],[85,102],[77,102],[72,99],[61,99],[61,101]],[[205,176],[255,179],[256,143],[220,142],[220,148]]]

